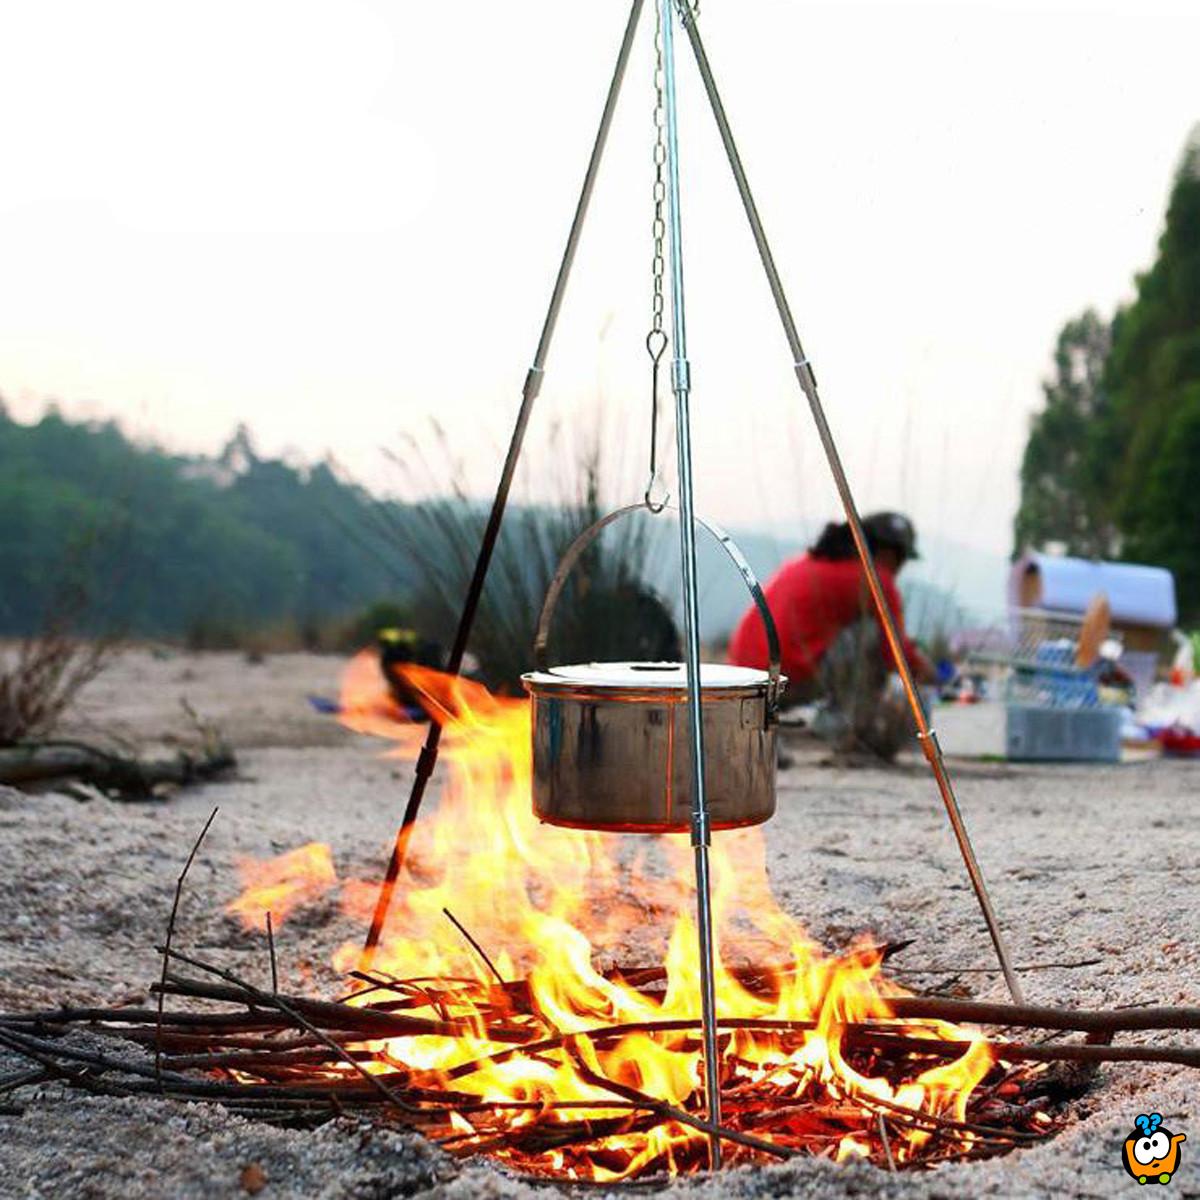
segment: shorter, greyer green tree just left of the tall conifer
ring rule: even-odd
[[[1103,376],[1108,324],[1091,308],[1067,322],[1055,347],[1054,376],[1043,385],[1021,461],[1015,552],[1061,544],[1067,553],[1102,558],[1116,548],[1104,472],[1091,439],[1108,415]]]

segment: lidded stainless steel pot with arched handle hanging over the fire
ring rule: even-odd
[[[691,821],[686,673],[678,662],[587,662],[546,668],[554,607],[580,554],[619,509],[571,544],[546,593],[534,660],[533,806],[542,821],[580,829],[680,833]],[[754,571],[728,535],[697,518],[738,568],[767,628],[768,671],[701,667],[704,780],[713,827],[760,824],[775,811],[779,637]]]

